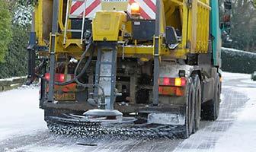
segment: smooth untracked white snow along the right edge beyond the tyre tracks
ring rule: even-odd
[[[256,151],[256,83],[249,80],[241,82],[245,87],[237,87],[234,90],[245,93],[249,100],[243,109],[236,113],[237,120],[216,143],[215,151]],[[248,88],[248,84],[255,86]]]

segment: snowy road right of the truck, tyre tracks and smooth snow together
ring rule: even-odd
[[[256,83],[250,80],[250,74],[224,72],[222,76],[219,119],[197,131],[174,151],[256,151]]]

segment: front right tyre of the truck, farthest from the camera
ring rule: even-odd
[[[219,116],[219,103],[220,103],[220,82],[219,76],[215,78],[215,90],[213,100],[207,101],[202,105],[202,118],[204,120],[216,120]]]

